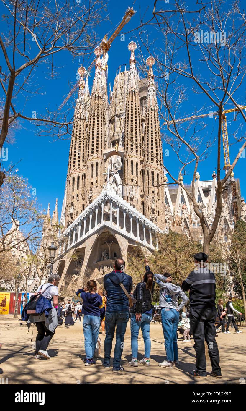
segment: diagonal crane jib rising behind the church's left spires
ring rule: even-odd
[[[130,21],[130,19],[132,18],[132,16],[134,16],[136,12],[133,10],[133,7],[128,7],[128,9],[125,12],[125,15],[121,21],[121,23],[118,25],[118,27],[116,28],[116,30],[113,32],[112,36],[109,37],[109,39],[107,39],[107,34],[105,34],[105,36],[103,37],[103,41],[100,44],[100,47],[103,50],[103,58],[105,58],[105,54],[107,53],[107,51],[109,51],[109,48],[111,47],[111,44],[113,42],[113,40],[116,38],[116,36],[119,34],[119,32],[123,29],[124,25],[126,23],[128,23]],[[90,71],[91,67],[93,66],[93,64],[96,62],[96,58],[93,60],[93,62],[89,65],[87,72]],[[106,67],[107,68],[107,67]],[[62,107],[64,106],[64,104],[66,104],[66,102],[68,101],[68,99],[70,99],[71,95],[75,92],[75,90],[77,89],[79,83],[76,83],[72,90],[68,93],[67,97],[65,98],[65,100],[62,102],[62,104],[59,106],[58,110],[61,110]]]

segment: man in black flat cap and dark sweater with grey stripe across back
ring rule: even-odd
[[[217,310],[215,306],[215,276],[207,268],[207,254],[200,252],[194,255],[195,269],[191,271],[187,279],[182,282],[182,290],[189,290],[190,299],[190,325],[194,337],[194,349],[196,351],[196,370],[192,375],[207,378],[205,345],[208,345],[208,353],[212,365],[211,376],[221,378],[219,366],[219,350],[215,341],[215,319]]]

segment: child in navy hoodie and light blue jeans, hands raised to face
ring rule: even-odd
[[[100,316],[103,314],[101,308],[103,308],[102,297],[96,293],[96,281],[90,280],[87,282],[86,288],[76,291],[76,295],[82,298],[82,314],[83,319],[83,332],[84,332],[84,349],[86,354],[85,365],[95,365],[96,361],[93,361],[93,355],[96,350],[96,343],[100,328]]]

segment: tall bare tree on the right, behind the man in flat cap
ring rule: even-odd
[[[182,185],[182,175],[192,174],[192,191],[189,192],[184,185],[182,187],[200,219],[203,251],[208,254],[220,221],[223,190],[246,148],[245,134],[241,134],[240,125],[232,135],[228,134],[229,145],[237,144],[239,151],[222,175],[223,111],[237,109],[242,122],[246,122],[241,108],[246,74],[246,16],[242,2],[237,0],[232,3],[198,0],[196,7],[187,1],[174,0],[169,4],[155,0],[153,6],[150,18],[146,17],[148,13],[144,13],[137,28],[139,44],[143,66],[146,55],[151,55],[157,62],[155,82],[162,137],[179,161],[178,175],[173,175],[165,164],[162,165],[171,178],[171,184]],[[153,29],[154,33],[157,32],[156,39],[153,39]],[[199,109],[194,108],[194,95],[199,95]],[[202,120],[180,121],[180,118],[189,117],[187,107],[193,109],[190,115],[205,114],[208,119],[216,117],[211,135],[205,132],[206,125]],[[209,155],[213,146],[216,147],[218,185],[216,212],[210,225],[196,201],[194,182],[200,162],[208,164],[211,161]]]

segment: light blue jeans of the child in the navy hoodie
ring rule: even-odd
[[[100,328],[100,317],[95,315],[85,315],[83,319],[84,349],[86,358],[93,358],[96,350]]]

